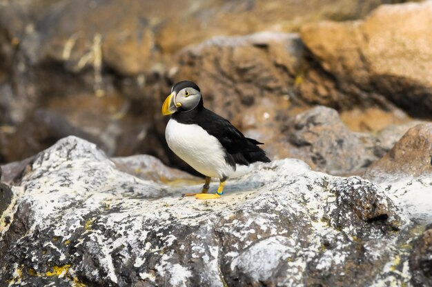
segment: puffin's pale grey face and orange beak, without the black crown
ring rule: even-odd
[[[162,105],[162,115],[170,115],[174,112],[186,112],[198,106],[201,93],[195,88],[187,87],[179,92],[171,92]]]

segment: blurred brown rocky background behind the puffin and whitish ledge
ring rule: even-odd
[[[432,2],[402,2],[0,0],[0,163],[76,135],[187,169],[160,107],[190,79],[271,158],[359,174],[432,117]]]

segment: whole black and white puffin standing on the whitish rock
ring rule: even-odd
[[[168,146],[192,168],[206,176],[197,199],[219,198],[225,181],[237,166],[270,162],[259,141],[244,137],[228,120],[204,108],[201,92],[192,81],[179,81],[162,106],[162,115],[172,115],[166,125]],[[211,177],[219,178],[215,194],[208,194]]]

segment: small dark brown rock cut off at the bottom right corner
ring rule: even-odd
[[[426,226],[424,233],[413,242],[409,266],[414,286],[432,285],[432,225]]]

